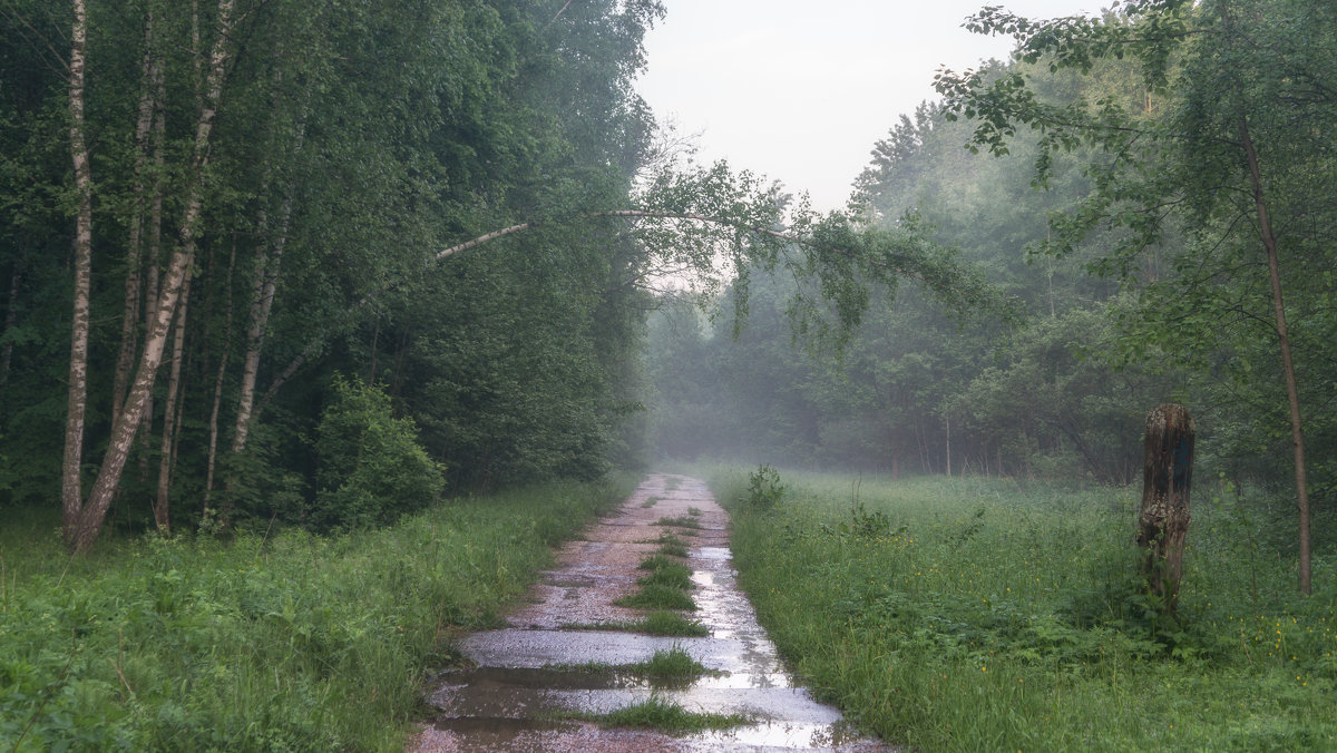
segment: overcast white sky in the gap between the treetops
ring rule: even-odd
[[[935,99],[939,66],[1005,59],[1009,39],[961,28],[983,5],[1031,17],[1098,13],[1112,0],[663,0],[639,90],[655,115],[702,131],[727,159],[840,209],[873,143]]]

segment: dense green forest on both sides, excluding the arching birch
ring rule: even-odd
[[[592,217],[664,159],[632,90],[658,3],[87,13],[0,12],[0,508],[63,499],[72,546],[103,492],[118,526],[333,530],[658,455],[1128,483],[1167,400],[1199,473],[1277,500],[1298,405],[1333,510],[1325,3],[983,15],[1016,59],[945,72],[848,217],[1013,305],[874,280],[852,330],[809,326],[840,292],[774,259],[714,316],[655,293],[643,237]]]

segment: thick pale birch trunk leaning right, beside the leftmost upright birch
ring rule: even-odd
[[[82,4],[82,0],[76,0],[76,3]],[[144,337],[144,349],[139,360],[134,385],[130,389],[130,397],[126,400],[120,420],[112,427],[107,455],[102,461],[102,468],[88,495],[88,502],[79,511],[79,520],[71,547],[78,552],[87,552],[94,542],[98,540],[107,508],[120,484],[120,475],[126,467],[126,457],[130,455],[130,445],[135,439],[135,432],[139,428],[148,401],[148,393],[152,391],[158,376],[158,366],[162,362],[163,349],[167,342],[167,329],[176,310],[186,272],[195,255],[197,223],[199,222],[203,205],[203,183],[206,167],[209,166],[210,132],[222,95],[223,68],[229,59],[233,7],[234,0],[219,0],[218,3],[218,39],[210,55],[209,91],[205,98],[205,107],[201,110],[195,123],[191,181],[189,182],[187,195],[183,201],[185,214],[180,223],[180,246],[172,253],[167,273],[163,277],[162,292],[154,309],[152,326]]]

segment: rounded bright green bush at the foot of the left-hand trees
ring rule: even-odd
[[[417,444],[410,419],[396,419],[378,387],[334,380],[334,401],[316,429],[317,530],[366,528],[432,504],[445,481]]]

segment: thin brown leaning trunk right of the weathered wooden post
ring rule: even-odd
[[[1249,122],[1239,118],[1239,140],[1249,160],[1249,181],[1253,189],[1254,210],[1258,214],[1258,235],[1267,250],[1267,277],[1271,282],[1271,310],[1277,322],[1277,341],[1281,345],[1281,368],[1286,380],[1286,404],[1290,408],[1290,444],[1296,461],[1296,508],[1300,512],[1300,593],[1312,593],[1309,554],[1309,481],[1305,472],[1305,432],[1300,413],[1300,385],[1296,364],[1290,357],[1290,330],[1286,326],[1286,304],[1281,296],[1281,262],[1277,258],[1277,238],[1271,233],[1267,202],[1262,190],[1262,171],[1258,169],[1258,150],[1249,136]]]

